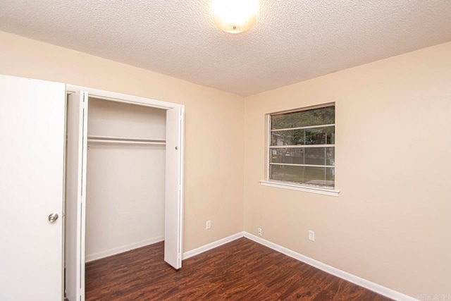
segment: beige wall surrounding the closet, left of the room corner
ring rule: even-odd
[[[242,97],[6,32],[0,51],[0,74],[185,104],[184,250],[242,231]]]

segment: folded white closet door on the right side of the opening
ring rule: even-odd
[[[166,111],[164,260],[182,267],[183,107]]]

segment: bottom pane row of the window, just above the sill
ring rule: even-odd
[[[270,166],[271,179],[309,185],[334,186],[335,168],[307,166]]]

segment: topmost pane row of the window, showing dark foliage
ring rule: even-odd
[[[271,116],[271,130],[335,123],[335,106]]]

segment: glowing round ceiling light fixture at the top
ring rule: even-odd
[[[257,18],[256,0],[213,0],[213,20],[220,30],[229,33],[245,32]]]

